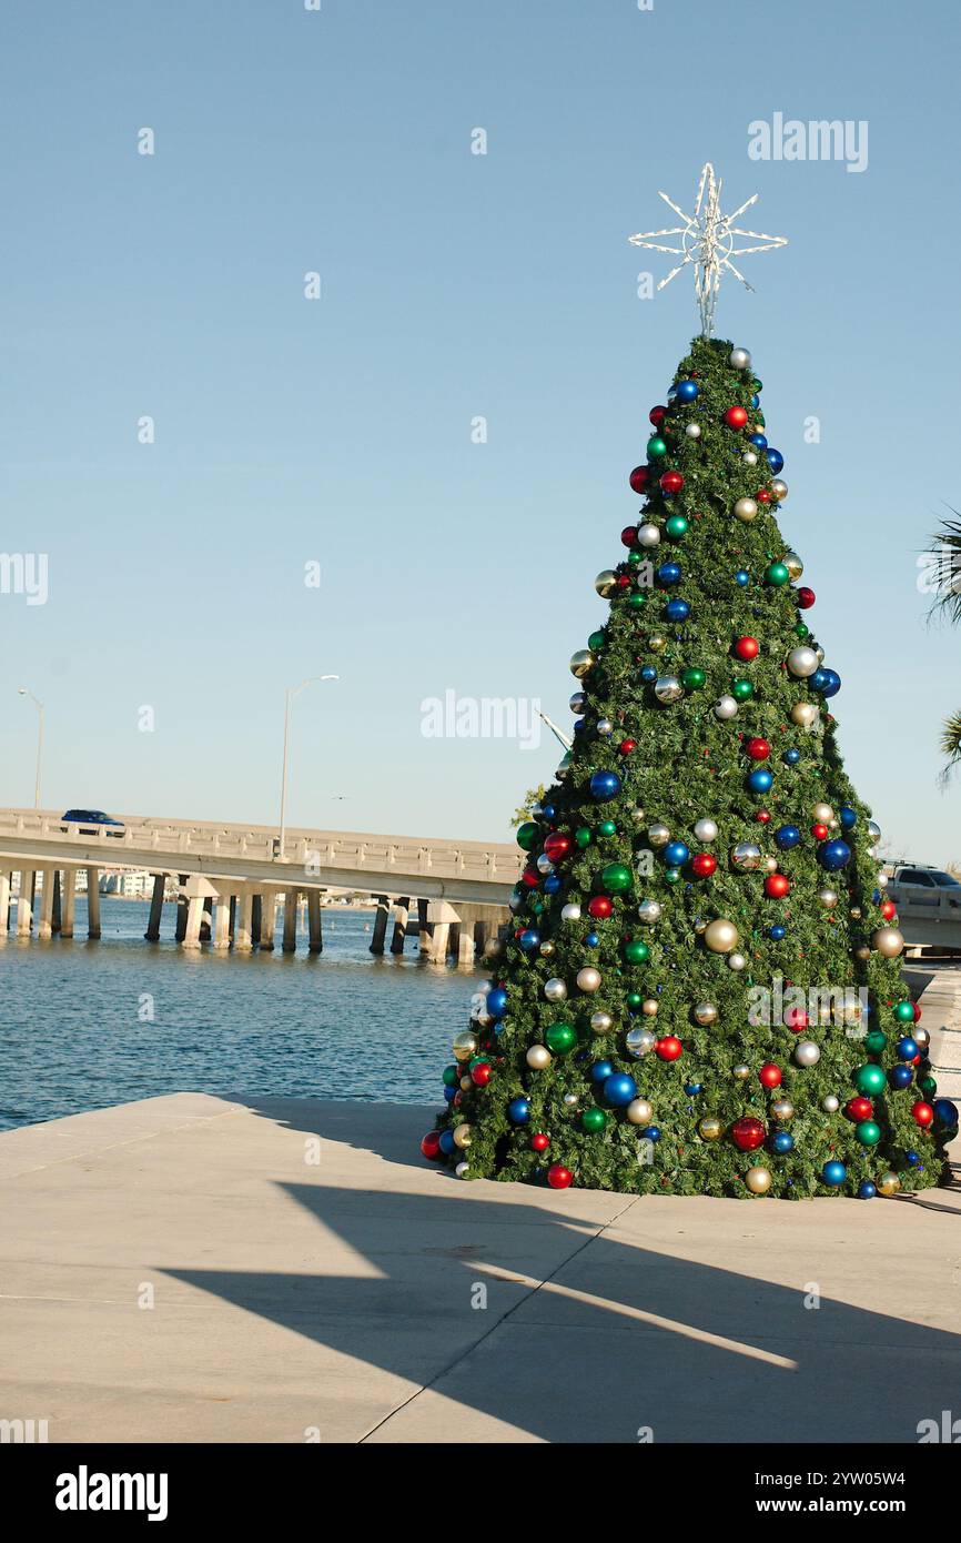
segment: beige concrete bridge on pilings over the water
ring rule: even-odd
[[[145,937],[157,941],[168,876],[177,881],[176,941],[247,954],[271,949],[284,904],[284,950],[296,949],[298,903],[307,901],[309,947],[322,949],[321,895],[329,890],[378,900],[372,952],[400,954],[416,907],[421,952],[443,963],[454,952],[474,963],[507,920],[507,898],[521,869],[509,842],[375,836],[353,830],[287,829],[285,855],[273,826],[202,819],[117,816],[122,824],[65,826],[54,810],[0,809],[0,937],[11,924],[12,875],[20,875],[17,935],[74,935],[77,873],[86,872],[88,935],[100,937],[99,880],[105,867],[154,875]],[[39,875],[42,875],[40,883]],[[39,901],[39,904],[37,904]]]

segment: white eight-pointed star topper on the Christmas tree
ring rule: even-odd
[[[669,284],[673,278],[677,278],[688,264],[693,265],[694,292],[697,295],[697,306],[700,307],[700,332],[705,338],[710,338],[714,332],[714,310],[717,307],[717,292],[723,270],[730,268],[747,290],[751,289],[744,273],[739,273],[731,262],[731,258],[742,258],[748,252],[773,252],[774,247],[787,247],[787,236],[765,236],[760,230],[742,230],[734,224],[739,214],[744,214],[745,208],[757,202],[757,193],[747,199],[740,208],[736,208],[733,214],[722,214],[720,187],[722,184],[714,179],[714,167],[708,160],[700,173],[697,202],[694,204],[693,214],[685,214],[666,193],[659,193],[659,198],[665,201],[668,208],[674,210],[677,218],[683,221],[683,225],[673,225],[669,230],[642,230],[640,235],[628,238],[636,247],[649,247],[651,252],[673,252],[676,256],[683,258],[676,268],[671,268],[666,279],[660,281],[657,285],[659,290],[665,284]],[[680,236],[680,245],[666,247],[659,239],[660,236]],[[734,239],[737,236],[750,236],[759,245],[736,247]]]

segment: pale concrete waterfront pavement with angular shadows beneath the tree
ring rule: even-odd
[[[463,1183],[420,1160],[429,1123],[176,1094],[0,1136],[0,1418],[51,1441],[913,1443],[961,1416],[961,1188]]]

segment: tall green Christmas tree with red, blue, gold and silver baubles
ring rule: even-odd
[[[716,287],[705,262],[705,332]],[[571,659],[572,744],[518,829],[514,930],[421,1143],[463,1177],[870,1199],[946,1174],[958,1111],[838,750],[760,390],[702,335],[649,414],[640,518]]]

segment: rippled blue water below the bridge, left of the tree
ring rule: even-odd
[[[324,952],[234,957],[145,943],[150,906],[77,900],[72,943],[0,941],[0,1128],[162,1092],[441,1103],[470,971],[373,958],[364,913],[324,910]],[[367,927],[367,930],[364,930]],[[173,934],[173,906],[162,930]],[[153,1003],[153,1021],[143,1015]]]

